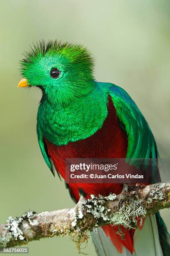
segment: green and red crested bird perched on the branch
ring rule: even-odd
[[[139,108],[121,87],[97,82],[95,58],[80,44],[44,40],[30,46],[20,61],[18,87],[38,87],[37,138],[52,174],[66,178],[69,158],[158,158],[150,127]],[[75,202],[80,195],[122,193],[120,183],[66,183]],[[159,212],[148,216],[143,228],[104,225],[92,232],[98,256],[168,256],[169,234]],[[123,227],[122,227],[123,228]]]

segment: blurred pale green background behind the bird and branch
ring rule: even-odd
[[[170,157],[169,0],[0,1],[0,223],[25,210],[74,205],[37,143],[40,91],[17,89],[22,52],[42,38],[87,46],[96,58],[96,79],[120,85],[133,97],[160,155]],[[169,211],[161,213],[170,228]],[[67,237],[28,246],[30,256],[77,255]],[[84,252],[95,255],[91,240]]]

